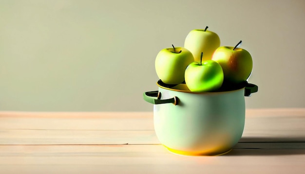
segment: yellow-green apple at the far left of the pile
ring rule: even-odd
[[[183,48],[176,47],[162,49],[155,59],[155,70],[159,79],[166,84],[180,84],[184,81],[185,69],[194,61],[192,53]]]

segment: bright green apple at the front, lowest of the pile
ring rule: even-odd
[[[192,92],[212,92],[219,89],[224,80],[221,66],[213,61],[206,60],[200,65],[192,62],[185,70],[185,83]]]

